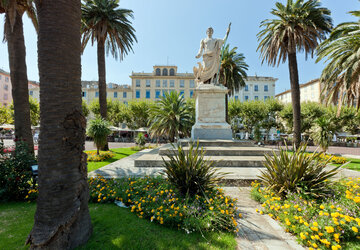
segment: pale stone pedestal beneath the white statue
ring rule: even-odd
[[[231,126],[225,120],[223,85],[199,84],[195,89],[196,122],[191,130],[192,140],[231,140]]]

